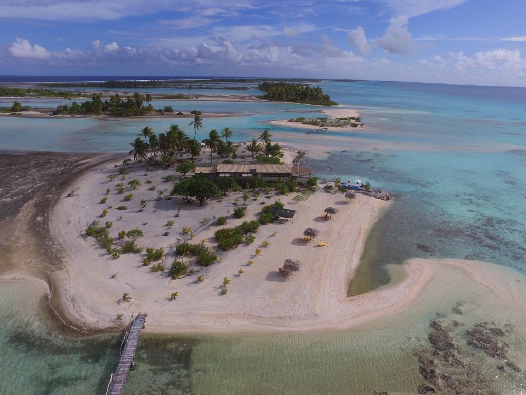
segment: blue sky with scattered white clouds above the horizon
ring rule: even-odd
[[[526,86],[524,0],[0,0],[0,74]]]

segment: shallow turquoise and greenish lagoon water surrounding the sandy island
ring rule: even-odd
[[[320,86],[341,105],[358,108],[368,129],[307,137],[294,128],[269,127],[276,141],[300,148],[323,143],[329,147],[323,159],[307,158],[317,175],[360,178],[395,196],[371,231],[351,294],[385,285],[389,270],[396,270],[389,264],[430,256],[417,243],[430,246],[435,251],[432,256],[480,259],[526,273],[524,88],[387,82],[323,82]],[[243,114],[205,119],[197,137],[203,139],[208,130],[229,126],[237,141],[257,137],[268,126],[265,121],[316,110],[279,103],[176,103],[183,111],[198,106],[201,111]],[[124,151],[145,125],[163,132],[177,123],[191,134],[189,121],[0,117],[0,149]],[[332,137],[348,142],[332,142]],[[115,369],[118,336],[74,341],[61,335],[56,339],[53,331],[42,332],[48,324],[34,315],[41,295],[28,297],[27,292],[21,284],[5,287],[2,283],[0,288],[0,319],[5,322],[7,317],[11,323],[0,328],[0,393],[59,394],[64,382],[77,393],[104,390],[105,380]],[[504,305],[488,289],[471,283],[468,287],[450,270],[444,270],[421,298],[407,313],[350,331],[145,335],[138,349],[138,369],[131,373],[126,393],[416,393],[422,379],[414,350],[428,345],[429,323],[436,313],[452,319],[450,309],[459,300],[469,306],[461,318],[455,317],[466,328],[492,320],[511,324],[513,357],[526,369],[521,343],[526,339],[524,314],[519,309]],[[23,337],[13,335],[16,328],[24,329]],[[520,384],[526,382],[524,377],[499,376],[494,361],[467,348],[466,339],[459,347],[484,372],[496,393],[521,390]],[[95,356],[94,349],[98,350]],[[50,362],[46,366],[43,361]],[[3,384],[15,372],[18,381]],[[24,379],[33,380],[35,375],[40,378],[37,384],[24,388]]]

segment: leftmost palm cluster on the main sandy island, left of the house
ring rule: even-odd
[[[165,133],[159,133],[157,136],[151,127],[144,127],[138,134],[137,139],[133,143],[129,155],[133,154],[134,160],[147,160],[155,163],[158,155],[161,155],[165,166],[173,165],[176,161],[179,152],[184,150],[191,150],[193,140],[189,139],[184,130],[181,130],[177,125],[170,125]]]

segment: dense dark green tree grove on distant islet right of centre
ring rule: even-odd
[[[311,88],[310,85],[287,82],[263,82],[258,85],[258,89],[266,92],[266,94],[259,96],[264,100],[322,106],[338,105],[338,103],[331,100],[329,95],[323,94],[321,88]]]

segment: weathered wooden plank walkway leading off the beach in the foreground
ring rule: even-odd
[[[120,354],[117,370],[115,374],[112,373],[112,377],[109,380],[106,395],[120,395],[123,393],[126,377],[128,376],[130,368],[133,367],[135,363],[135,349],[137,348],[140,331],[144,328],[147,315],[146,313],[137,314],[137,317],[131,322],[130,331],[125,333],[124,339],[126,340],[126,345],[124,346],[124,351]]]

